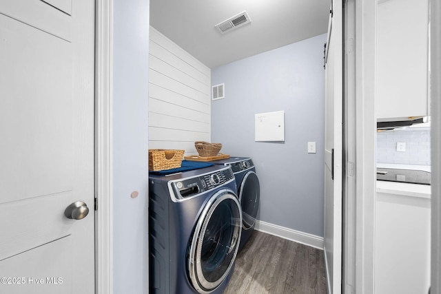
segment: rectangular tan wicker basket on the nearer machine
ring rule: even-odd
[[[149,149],[149,170],[163,171],[181,167],[185,150]]]

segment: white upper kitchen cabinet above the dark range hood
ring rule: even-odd
[[[428,2],[378,0],[378,121],[429,115]]]

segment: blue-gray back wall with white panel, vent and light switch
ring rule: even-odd
[[[212,69],[212,142],[249,156],[260,180],[259,220],[323,236],[326,34]],[[285,111],[285,142],[254,142],[254,114]],[[317,153],[307,153],[316,141]]]

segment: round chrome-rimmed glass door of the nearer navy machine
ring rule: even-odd
[[[233,191],[218,191],[201,213],[189,246],[189,276],[198,293],[209,293],[227,277],[240,241],[242,212]]]

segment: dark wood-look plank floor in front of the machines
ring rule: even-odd
[[[326,294],[323,251],[254,231],[223,294]]]

